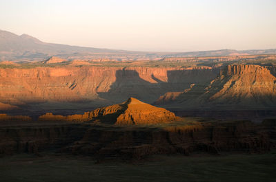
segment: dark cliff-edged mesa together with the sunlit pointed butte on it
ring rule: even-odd
[[[83,115],[47,113],[37,122],[23,116],[0,118],[0,155],[51,149],[98,160],[144,159],[156,154],[266,152],[275,146],[275,120],[188,120],[135,98]]]

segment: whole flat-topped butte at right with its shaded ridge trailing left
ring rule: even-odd
[[[191,85],[175,95],[164,95],[156,104],[174,102],[190,109],[275,109],[276,78],[259,65],[228,65],[210,84]]]

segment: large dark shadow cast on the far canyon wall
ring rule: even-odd
[[[112,83],[108,92],[99,92],[100,98],[110,100],[113,103],[123,102],[130,97],[137,98],[143,102],[153,103],[161,95],[167,92],[184,91],[190,84],[206,84],[217,76],[218,71],[204,70],[170,70],[167,71],[168,80],[159,80],[153,74],[152,80],[148,82],[139,76],[135,70],[116,71],[116,81]]]

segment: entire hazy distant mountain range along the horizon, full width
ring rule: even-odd
[[[60,58],[66,58],[68,60],[89,60],[97,58],[157,60],[164,57],[236,56],[244,54],[276,54],[276,49],[246,51],[223,49],[204,52],[132,52],[43,43],[28,34],[18,36],[11,32],[0,30],[0,60],[46,60],[50,56],[59,56]]]

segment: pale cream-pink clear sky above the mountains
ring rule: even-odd
[[[0,30],[108,49],[270,49],[276,1],[0,0]]]

